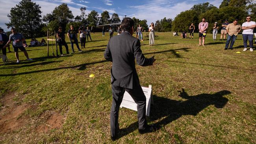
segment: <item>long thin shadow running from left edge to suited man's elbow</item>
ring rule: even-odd
[[[48,71],[52,71],[52,70],[61,70],[61,69],[69,69],[69,68],[78,68],[78,70],[84,70],[87,65],[93,65],[93,64],[96,64],[96,63],[105,63],[105,62],[108,62],[108,61],[107,60],[102,60],[102,61],[96,61],[96,62],[93,62],[93,63],[85,63],[85,64],[75,65],[75,66],[51,68],[51,69],[45,69],[45,70],[34,70],[34,71],[30,71],[30,72],[21,72],[21,73],[17,73],[17,74],[0,74],[0,77],[1,76],[18,76],[18,75],[22,75],[22,74],[32,74],[32,73],[37,73],[37,72],[48,72]]]

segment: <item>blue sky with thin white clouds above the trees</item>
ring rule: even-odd
[[[136,17],[146,19],[148,25],[156,22],[164,17],[174,18],[182,11],[190,9],[194,4],[208,2],[207,0],[32,0],[41,6],[42,17],[62,3],[66,3],[72,11],[74,17],[80,15],[80,7],[86,7],[86,13],[92,10],[98,11],[99,15],[102,11],[108,11],[109,15],[117,13],[122,19],[126,17]],[[211,0],[210,3],[219,7],[223,0]],[[7,13],[11,7],[18,4],[20,0],[0,0],[0,27],[5,31],[9,31],[4,23],[9,22]]]

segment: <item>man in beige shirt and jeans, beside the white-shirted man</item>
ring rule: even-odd
[[[231,41],[230,43],[230,50],[233,50],[233,45],[236,41],[236,37],[238,35],[238,33],[241,31],[241,25],[237,24],[238,20],[235,19],[233,21],[233,23],[231,24],[228,24],[226,26],[226,31],[228,33],[228,38],[227,38],[227,41],[226,41],[226,46],[224,48],[224,50],[227,50],[228,49],[228,45],[229,45],[229,42]]]

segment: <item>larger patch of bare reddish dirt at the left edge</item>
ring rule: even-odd
[[[0,109],[0,133],[9,133],[10,131],[19,129],[28,121],[21,114],[30,108],[31,105],[28,103],[19,105],[13,100],[14,98],[14,92],[9,92],[1,98],[3,106]]]

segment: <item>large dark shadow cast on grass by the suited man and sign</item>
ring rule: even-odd
[[[151,107],[150,121],[156,122],[157,129],[177,120],[184,115],[196,116],[200,111],[210,105],[216,108],[223,108],[228,102],[224,95],[230,94],[228,90],[222,90],[215,94],[198,94],[196,96],[189,96],[184,89],[180,91],[180,97],[187,99],[186,101],[170,100],[154,95],[154,106]],[[162,119],[163,118],[163,119]],[[118,138],[121,138],[129,133],[132,133],[138,128],[138,122],[134,122],[130,126],[120,129]]]

